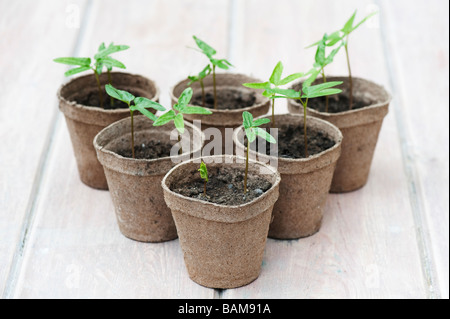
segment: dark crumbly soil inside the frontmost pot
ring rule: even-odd
[[[249,174],[247,193],[244,194],[244,165],[242,169],[213,168],[208,171],[209,181],[206,183],[206,196],[204,195],[204,181],[200,175],[193,177],[189,182],[175,182],[170,189],[183,196],[210,203],[227,206],[242,205],[260,197],[272,187],[272,184],[264,178]]]

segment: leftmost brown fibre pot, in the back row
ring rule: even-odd
[[[152,80],[145,77],[112,72],[111,82],[118,89],[158,101],[159,89]],[[101,74],[100,83],[103,88],[109,83],[107,74]],[[93,74],[72,79],[61,86],[57,95],[59,108],[66,118],[81,181],[93,188],[108,189],[103,167],[97,160],[92,141],[106,126],[130,116],[130,110],[106,110],[77,103],[76,101],[85,96],[98,96],[97,82]],[[103,95],[104,99],[108,97],[106,92]]]

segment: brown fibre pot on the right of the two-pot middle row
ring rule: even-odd
[[[303,116],[298,114],[275,115],[275,122],[283,125],[303,127]],[[267,124],[266,128],[270,127]],[[342,134],[337,127],[321,119],[307,117],[307,127],[320,131],[335,142],[335,145],[308,158],[293,159],[278,157],[281,174],[280,197],[273,208],[273,222],[269,237],[296,239],[319,231],[323,209],[330,189],[336,161],[341,152]],[[246,151],[243,144],[244,130],[234,134],[238,154]],[[252,157],[264,163],[271,160],[270,154],[256,153],[250,148]],[[273,163],[273,159],[272,159]]]

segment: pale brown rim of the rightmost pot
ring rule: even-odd
[[[321,77],[318,77],[317,79],[320,79],[320,78]],[[327,76],[327,81],[330,81],[330,80],[335,80],[336,81],[336,80],[340,80],[340,79],[344,79],[344,80],[348,79],[348,76],[334,76],[334,75]],[[359,108],[359,109],[347,110],[347,111],[343,111],[343,112],[339,112],[339,113],[319,112],[319,111],[317,111],[315,109],[312,109],[310,107],[307,108],[308,111],[310,111],[311,113],[314,113],[314,114],[319,114],[323,118],[334,118],[334,117],[338,117],[338,116],[351,115],[351,114],[355,114],[355,113],[364,112],[364,111],[367,111],[367,110],[370,110],[370,109],[384,107],[386,105],[389,105],[389,103],[391,103],[392,95],[385,89],[384,86],[382,86],[382,85],[380,85],[380,84],[378,84],[376,82],[370,81],[368,79],[361,78],[361,77],[352,76],[352,79],[353,80],[367,82],[367,83],[370,83],[371,85],[379,87],[386,94],[386,100],[383,101],[383,102],[370,104],[368,106],[364,106],[364,107]],[[302,82],[303,81],[295,82],[294,84],[291,85],[291,88],[296,86],[296,85],[298,85],[299,83],[302,83]],[[293,104],[293,105],[295,105],[296,107],[298,106],[300,108],[303,108],[303,106],[300,104],[300,102],[298,102],[296,100],[289,99],[288,102]]]

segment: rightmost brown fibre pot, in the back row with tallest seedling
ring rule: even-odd
[[[348,77],[327,77],[327,81],[343,81],[341,97],[348,97]],[[330,97],[330,101],[333,97]],[[325,113],[308,107],[308,114],[336,125],[344,136],[342,155],[338,160],[330,191],[343,193],[363,187],[368,180],[373,154],[383,119],[388,113],[390,94],[380,85],[353,78],[353,99],[366,105],[339,113]],[[303,112],[296,101],[289,100],[291,113]]]

